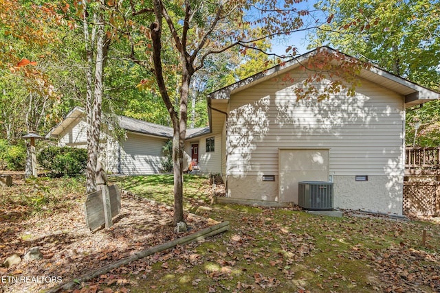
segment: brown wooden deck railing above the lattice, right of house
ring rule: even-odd
[[[405,148],[405,167],[434,169],[440,167],[440,148]]]

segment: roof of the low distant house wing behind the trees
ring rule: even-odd
[[[85,110],[80,107],[73,108],[57,126],[52,128],[49,133],[46,134],[46,138],[55,137],[58,138],[63,135],[65,130],[75,126],[80,120],[85,119]],[[126,116],[118,116],[120,128],[140,134],[151,135],[153,137],[164,137],[167,139],[173,138],[173,128],[154,124],[139,119],[134,119]],[[186,130],[186,139],[193,137],[199,137],[203,134],[210,133],[210,128],[188,128]]]

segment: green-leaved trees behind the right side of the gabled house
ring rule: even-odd
[[[316,5],[333,19],[317,31],[314,45],[329,44],[412,82],[440,88],[439,1],[325,0]],[[406,145],[439,145],[439,106],[433,101],[423,110],[408,110]]]

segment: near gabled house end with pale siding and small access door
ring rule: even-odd
[[[298,203],[298,182],[333,180],[334,207],[401,215],[405,109],[439,93],[372,67],[353,97],[297,101],[317,51],[209,95],[227,197]]]

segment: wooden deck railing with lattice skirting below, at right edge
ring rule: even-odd
[[[404,214],[440,215],[440,148],[406,148]]]

